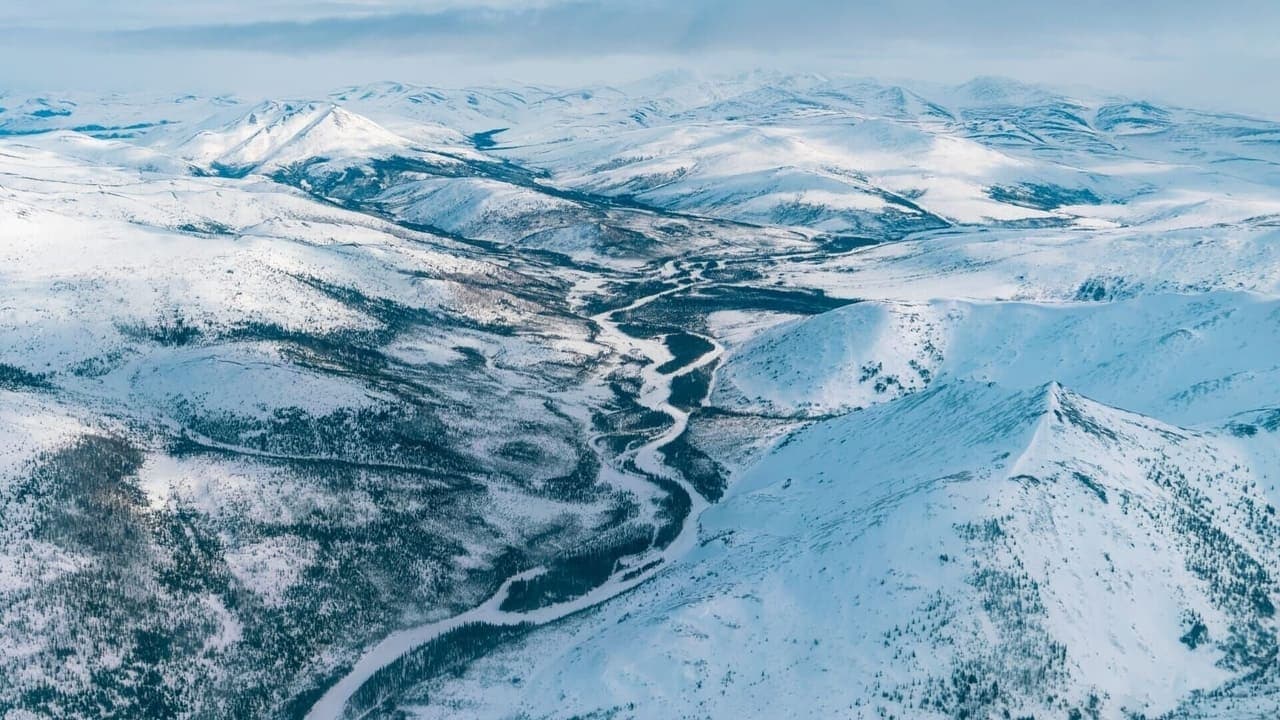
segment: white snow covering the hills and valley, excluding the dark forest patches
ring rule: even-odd
[[[758,433],[726,445],[765,448],[736,456],[749,461],[730,464],[718,502],[681,484],[692,515],[645,556],[660,569],[527,614],[498,609],[517,578],[467,612],[424,609],[430,621],[356,643],[364,655],[315,660],[329,676],[351,669],[317,716],[340,716],[379,669],[466,620],[539,628],[429,679],[402,710],[1280,712],[1280,682],[1249,674],[1274,665],[1280,629],[1280,123],[998,78],[776,73],[0,104],[0,600],[83,561],[29,539],[15,488],[41,452],[123,415],[269,421],[394,402],[266,342],[187,334],[337,337],[381,329],[375,307],[439,314],[456,324],[387,356],[443,368],[474,354],[521,388],[607,346],[641,368],[640,404],[673,420],[630,459],[672,475],[660,445],[686,428],[696,438],[704,418],[669,400],[673,378],[657,370],[668,350],[609,311],[590,337],[557,325],[504,291],[494,243],[580,263],[538,265],[557,275],[540,290],[573,302],[608,287],[590,277],[603,268],[850,304],[709,311],[699,332],[714,350],[681,373],[712,369],[707,404]],[[365,195],[311,195],[334,177]],[[358,290],[366,310],[334,288]],[[623,311],[682,290],[645,290]],[[466,329],[489,325],[545,337]],[[445,404],[472,389],[431,387]],[[445,418],[515,434],[544,400]],[[506,439],[471,450],[497,455]],[[531,486],[571,455],[567,442],[541,450]],[[223,520],[374,511],[362,491],[163,452],[137,484],[151,507]],[[526,528],[562,512],[493,498],[494,518]],[[268,606],[316,552],[228,539],[230,574]],[[454,570],[485,552],[466,548]],[[212,651],[242,641],[228,607],[207,611]],[[35,650],[0,633],[0,655]]]

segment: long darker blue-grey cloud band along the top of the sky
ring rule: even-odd
[[[392,5],[404,8],[403,3]],[[251,13],[247,14],[250,18]],[[99,40],[125,47],[204,47],[266,53],[447,51],[476,55],[581,53],[704,53],[718,50],[855,49],[936,42],[1059,49],[1124,38],[1189,44],[1226,32],[1266,37],[1280,27],[1280,4],[1226,5],[1174,0],[1028,3],[1025,0],[913,3],[891,0],[709,0],[701,3],[566,0],[549,4],[434,12],[338,15],[303,22],[164,26],[109,32]],[[1125,47],[1115,47],[1124,51]]]

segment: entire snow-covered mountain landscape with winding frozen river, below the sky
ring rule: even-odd
[[[6,720],[1280,712],[1280,123],[0,108]]]

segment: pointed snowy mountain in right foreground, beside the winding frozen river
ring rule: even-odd
[[[1275,468],[1242,460],[1056,384],[824,420],[704,514],[681,573],[420,716],[1155,716],[1275,655]]]

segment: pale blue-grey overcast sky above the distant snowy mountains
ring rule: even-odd
[[[306,95],[753,68],[1280,115],[1280,0],[0,0],[0,86]]]

